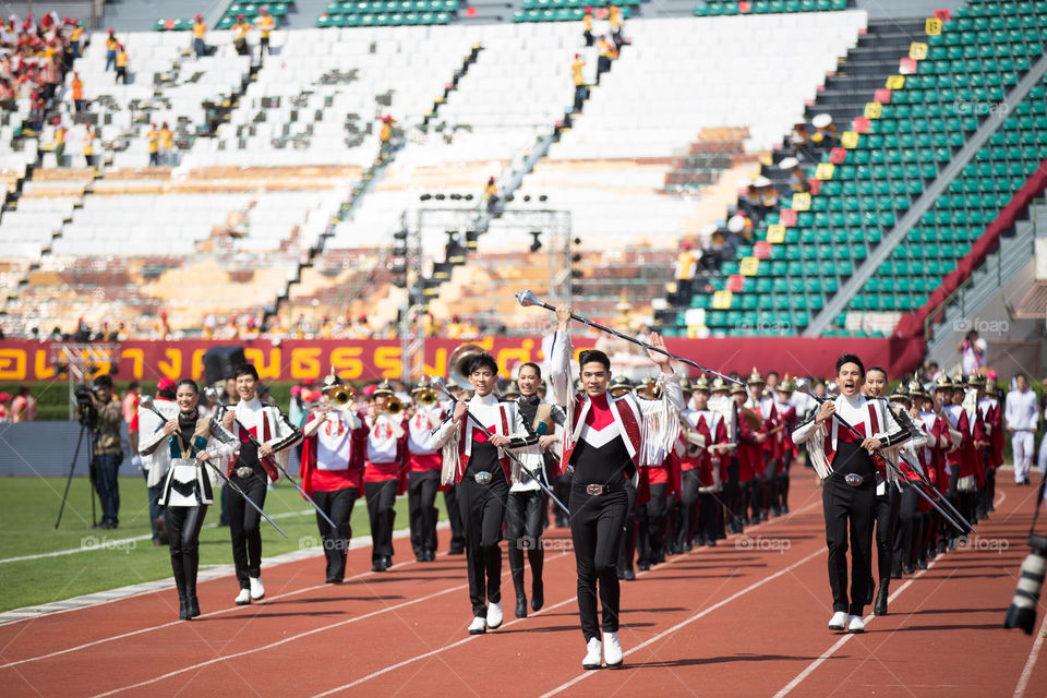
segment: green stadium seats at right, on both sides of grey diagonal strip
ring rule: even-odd
[[[789,202],[783,203],[789,210],[783,214],[795,216],[795,225],[775,214],[769,216],[768,228],[757,236],[757,246],[739,249],[708,291],[691,300],[693,309],[706,312],[678,313],[677,332],[701,322],[714,335],[796,334],[806,327],[912,201],[938,177],[977,129],[979,118],[999,104],[1043,53],[1040,32],[1047,26],[1047,5],[1037,4],[1030,13],[1019,9],[1020,3],[1014,2],[961,8],[959,16],[943,25],[941,35],[928,41],[927,58],[918,62],[916,73],[905,75],[904,85],[895,86],[889,103],[878,107],[879,118],[868,119],[867,129],[861,124],[865,132],[852,147],[823,158],[826,164],[835,159],[834,170],[809,204],[789,208]],[[1037,94],[1043,91],[1038,88]],[[1028,164],[1035,166],[1043,157],[1037,122],[1043,108],[1036,98],[1031,100],[1021,106],[1024,113],[1009,118],[1009,122],[1019,119],[1013,122],[1018,133],[1008,135],[1010,129],[998,133],[995,144],[986,146],[990,149],[983,148],[968,166],[965,177],[982,180],[977,192],[967,191],[973,183],[953,182],[951,186],[961,190],[950,189],[950,195],[937,202],[910,233],[911,244],[895,250],[896,258],[890,262],[895,279],[902,269],[916,269],[918,278],[904,281],[904,288],[891,285],[879,289],[874,281],[852,300],[852,311],[887,310],[894,312],[891,317],[896,320],[898,312],[918,306],[937,279],[954,267],[984,224],[1007,203],[1007,192],[1025,180]],[[968,203],[968,193],[983,195]],[[958,195],[960,198],[954,198]],[[775,225],[779,222],[785,225]],[[914,258],[918,262],[911,267]],[[852,320],[849,313],[837,321],[857,327],[862,316],[857,317]],[[889,330],[891,318],[877,326],[880,332]]]

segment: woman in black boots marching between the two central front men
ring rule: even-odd
[[[509,569],[513,573],[513,587],[516,590],[516,617],[527,617],[527,594],[524,591],[524,551],[531,565],[531,609],[538,611],[545,603],[545,587],[542,583],[542,566],[545,551],[542,549],[542,529],[544,528],[549,501],[538,486],[540,480],[546,486],[554,480],[546,471],[545,449],[556,444],[557,425],[566,419],[564,411],[543,402],[538,396],[542,383],[542,370],[535,363],[525,363],[517,373],[517,386],[520,395],[516,399],[517,409],[524,418],[524,428],[538,443],[528,446],[519,454],[527,473],[513,469],[513,484],[505,505],[505,534],[509,541]],[[506,396],[508,397],[508,396]]]

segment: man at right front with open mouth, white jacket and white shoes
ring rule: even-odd
[[[837,359],[840,395],[825,400],[817,414],[793,432],[793,441],[807,443],[811,465],[822,478],[821,501],[829,547],[829,586],[832,617],[829,628],[862,633],[863,607],[868,603],[872,577],[872,518],[876,488],[886,477],[882,459],[872,454],[898,446],[910,435],[894,421],[881,400],[861,393],[865,366],[858,357]],[[862,434],[855,436],[846,422]],[[847,594],[847,550],[851,549],[851,593]]]

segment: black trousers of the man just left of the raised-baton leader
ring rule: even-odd
[[[505,518],[509,483],[498,467],[489,484],[479,484],[471,474],[458,483],[458,508],[466,534],[466,564],[469,567],[469,601],[472,615],[486,614],[488,602],[502,601],[502,521]]]

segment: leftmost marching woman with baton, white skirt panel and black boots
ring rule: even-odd
[[[171,569],[178,589],[178,617],[189,621],[200,615],[196,600],[196,570],[200,566],[200,529],[207,505],[212,503],[209,473],[236,452],[236,438],[217,420],[201,417],[196,402],[200,388],[194,381],[178,384],[174,399],[178,417],[164,423],[171,452],[171,468],[164,481],[160,504],[170,541]]]

